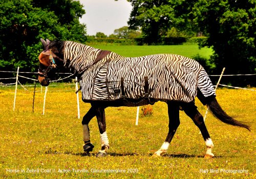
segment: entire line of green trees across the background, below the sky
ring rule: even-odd
[[[131,39],[136,44],[168,44],[175,38],[203,35],[200,47],[211,47],[212,73],[255,73],[255,0],[127,0],[127,22],[108,37],[88,36],[79,18],[86,12],[73,0],[0,0],[0,70],[37,70],[39,38],[72,40]],[[115,0],[117,1],[117,0]],[[125,41],[125,40],[123,40]],[[171,44],[171,43],[170,43]],[[200,58],[200,57],[199,57]]]

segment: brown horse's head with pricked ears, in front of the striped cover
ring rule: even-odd
[[[48,86],[49,79],[51,79],[55,74],[57,65],[61,64],[60,62],[63,62],[63,60],[56,55],[61,55],[61,53],[59,52],[58,47],[53,47],[52,44],[50,44],[50,40],[40,40],[42,42],[42,46],[44,47],[44,51],[42,51],[38,56],[38,81],[42,86]]]

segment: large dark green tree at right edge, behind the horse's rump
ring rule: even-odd
[[[202,46],[212,47],[216,71],[255,73],[255,0],[199,0],[191,11],[195,27],[208,34]]]

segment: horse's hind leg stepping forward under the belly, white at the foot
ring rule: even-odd
[[[153,156],[161,156],[166,153],[170,142],[172,141],[177,128],[180,125],[179,118],[179,103],[175,101],[168,101],[168,116],[169,116],[169,131],[168,135],[161,146],[161,148],[154,153]]]

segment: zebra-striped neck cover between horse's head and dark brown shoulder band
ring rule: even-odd
[[[66,41],[64,52],[64,64],[75,72],[81,73],[92,65],[100,49],[95,49],[85,44]]]

